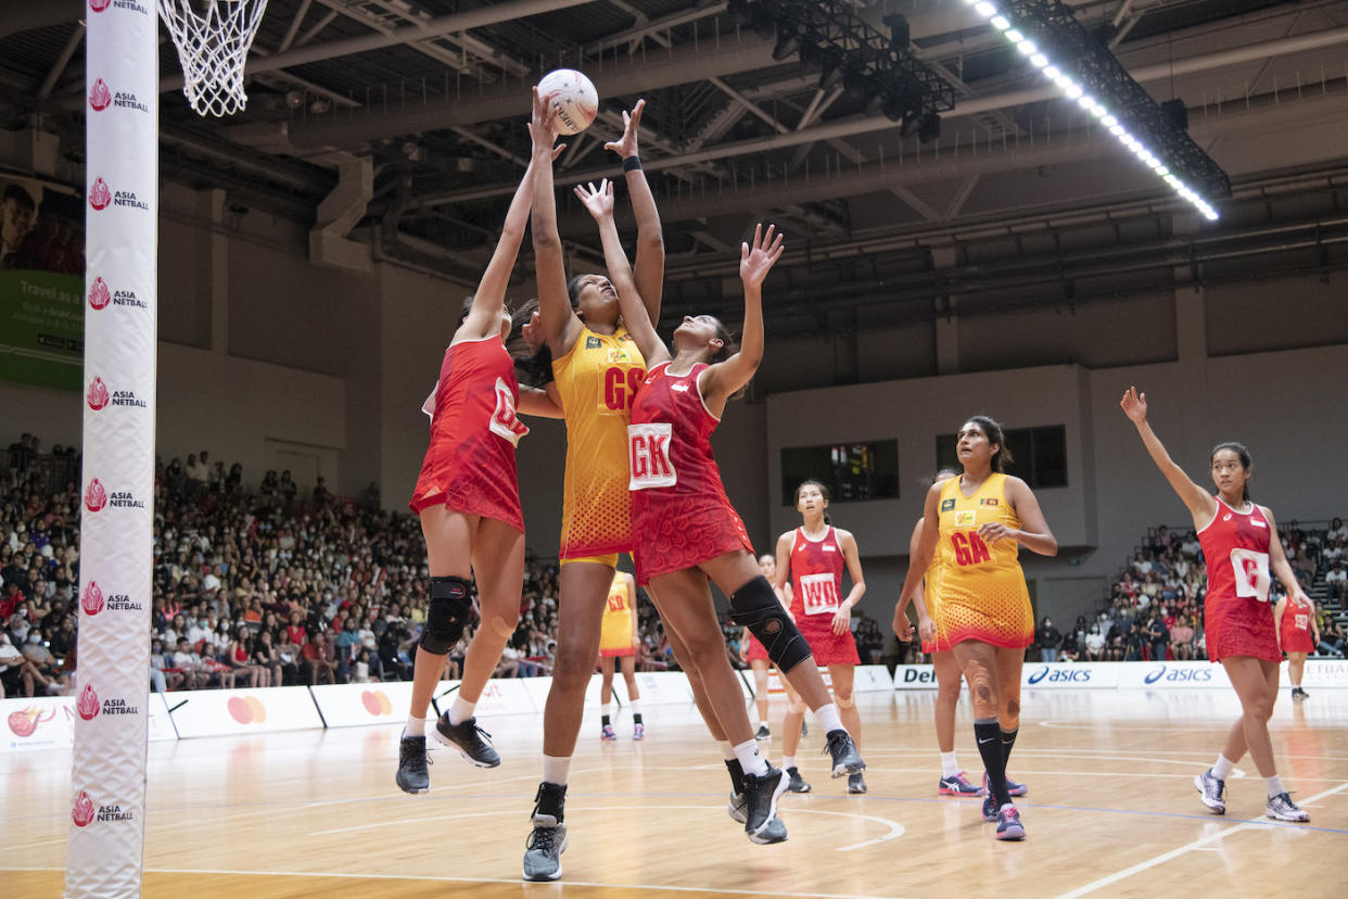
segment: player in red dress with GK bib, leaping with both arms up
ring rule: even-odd
[[[829,732],[834,776],[865,766],[829,702],[809,646],[758,569],[744,524],[725,496],[709,439],[725,402],[749,381],[762,360],[762,284],[782,253],[782,239],[774,241],[774,228],[764,235],[759,226],[752,248],[747,243],[741,247],[744,348],[733,349],[716,318],[687,317],[674,332],[671,357],[632,282],[613,225],[612,189],[603,182],[597,190],[590,185],[576,193],[599,221],[623,319],[647,363],[628,426],[636,582],[655,588],[665,627],[682,640],[701,675],[710,712],[740,762],[745,833],[755,842],[778,842],[786,830],[776,821],[776,799],[787,780],[763,759],[754,739],[708,578],[731,597],[739,623],[763,640],[772,660],[816,708]]]

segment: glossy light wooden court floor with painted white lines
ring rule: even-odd
[[[1348,690],[1271,722],[1279,770],[1309,825],[1263,814],[1248,759],[1213,817],[1190,780],[1216,757],[1235,697],[1194,691],[1035,691],[1023,697],[1012,775],[1029,838],[999,844],[979,802],[937,797],[934,694],[863,694],[871,791],[829,780],[817,728],[814,786],[783,798],[790,840],[748,842],[725,814],[728,780],[696,712],[647,709],[647,739],[601,744],[586,718],[568,798],[570,848],[555,884],[519,881],[541,752],[539,718],[484,720],[504,756],[470,768],[434,752],[431,793],[394,786],[398,728],[151,745],[150,898],[248,896],[1155,896],[1344,895]],[[774,718],[783,708],[774,701]],[[968,706],[960,762],[980,770]],[[811,721],[811,728],[813,728]],[[780,735],[771,755],[780,757]],[[0,895],[61,895],[69,753],[0,756]]]

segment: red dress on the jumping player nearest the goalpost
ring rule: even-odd
[[[499,334],[445,350],[434,407],[426,410],[430,446],[408,503],[414,512],[441,504],[524,530],[515,446],[528,427],[515,414],[518,402],[515,363]]]

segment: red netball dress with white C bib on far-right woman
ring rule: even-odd
[[[1198,531],[1208,565],[1202,605],[1208,658],[1248,655],[1282,660],[1268,602],[1268,543],[1273,528],[1258,505],[1237,512],[1217,497],[1217,515]]]

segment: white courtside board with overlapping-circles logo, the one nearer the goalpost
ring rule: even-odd
[[[309,687],[185,690],[167,698],[183,739],[324,726]]]

